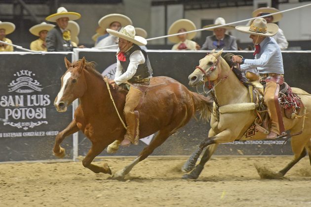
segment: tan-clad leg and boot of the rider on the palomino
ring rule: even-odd
[[[270,131],[279,135],[280,134],[279,124],[278,124],[277,111],[276,111],[275,102],[274,102],[274,94],[275,94],[276,86],[277,86],[276,84],[277,83],[274,83],[274,82],[268,82],[266,84],[264,97],[265,97],[265,104],[268,106],[269,116],[271,119]]]

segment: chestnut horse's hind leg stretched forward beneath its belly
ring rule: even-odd
[[[140,155],[137,158],[135,158],[133,162],[131,162],[128,166],[125,166],[122,170],[114,174],[113,179],[118,180],[124,179],[125,175],[128,174],[134,168],[134,166],[137,165],[137,163],[146,159],[151,153],[153,153],[156,147],[160,146],[174,132],[167,130],[159,131],[156,137],[151,141],[150,145],[145,147],[143,151],[140,153]]]

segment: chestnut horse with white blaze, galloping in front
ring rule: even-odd
[[[61,89],[54,105],[59,112],[67,110],[67,106],[79,99],[74,120],[55,138],[53,152],[57,157],[64,157],[65,151],[60,147],[63,139],[78,130],[92,142],[92,147],[82,161],[85,168],[94,173],[110,173],[107,164],[103,167],[91,164],[109,144],[107,151],[118,149],[125,129],[118,118],[114,104],[110,98],[107,82],[94,69],[93,63],[85,59],[70,63],[65,58],[67,71],[61,77]],[[123,107],[127,91],[122,87],[109,86],[117,110],[124,120]],[[140,114],[139,137],[144,138],[158,132],[149,146],[128,166],[114,175],[122,179],[140,161],[148,157],[156,147],[161,145],[170,135],[189,122],[195,111],[199,111],[205,119],[209,119],[213,100],[189,91],[184,85],[169,77],[153,77],[145,98],[138,108]]]

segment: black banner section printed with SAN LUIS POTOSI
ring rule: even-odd
[[[72,120],[72,107],[53,105],[72,54],[0,54],[0,162],[55,159],[55,136]],[[73,158],[72,136],[65,139]]]

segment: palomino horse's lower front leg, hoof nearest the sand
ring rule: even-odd
[[[195,166],[194,170],[189,174],[184,174],[182,176],[183,179],[196,179],[200,173],[202,172],[205,163],[211,158],[214,151],[217,149],[218,144],[208,145],[205,149],[204,154],[201,157],[201,161],[198,165]],[[182,169],[183,170],[183,169]]]

